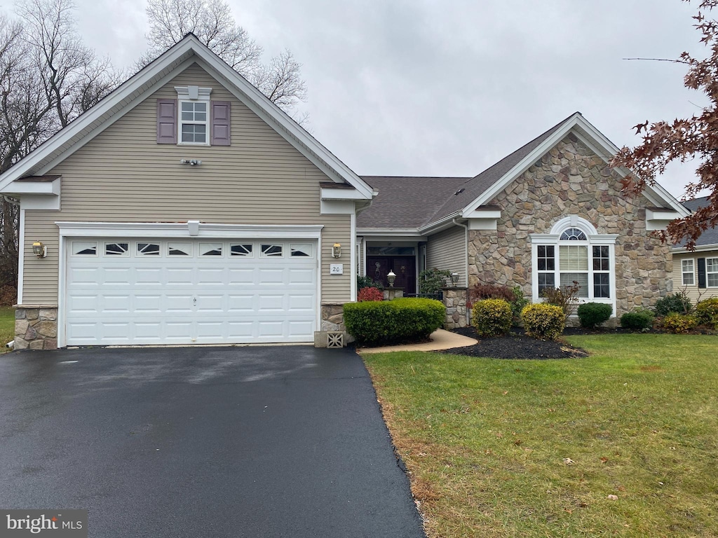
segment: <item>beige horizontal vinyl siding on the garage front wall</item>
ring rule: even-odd
[[[176,85],[231,102],[231,146],[157,144],[157,99],[177,98]],[[329,179],[197,64],[48,173],[62,175],[62,209],[26,212],[24,303],[57,302],[55,221],[324,225],[322,301],[350,300],[350,271],[329,275],[331,245],[350,245],[350,216],[320,214]],[[32,256],[36,238],[50,247],[45,260]]]

